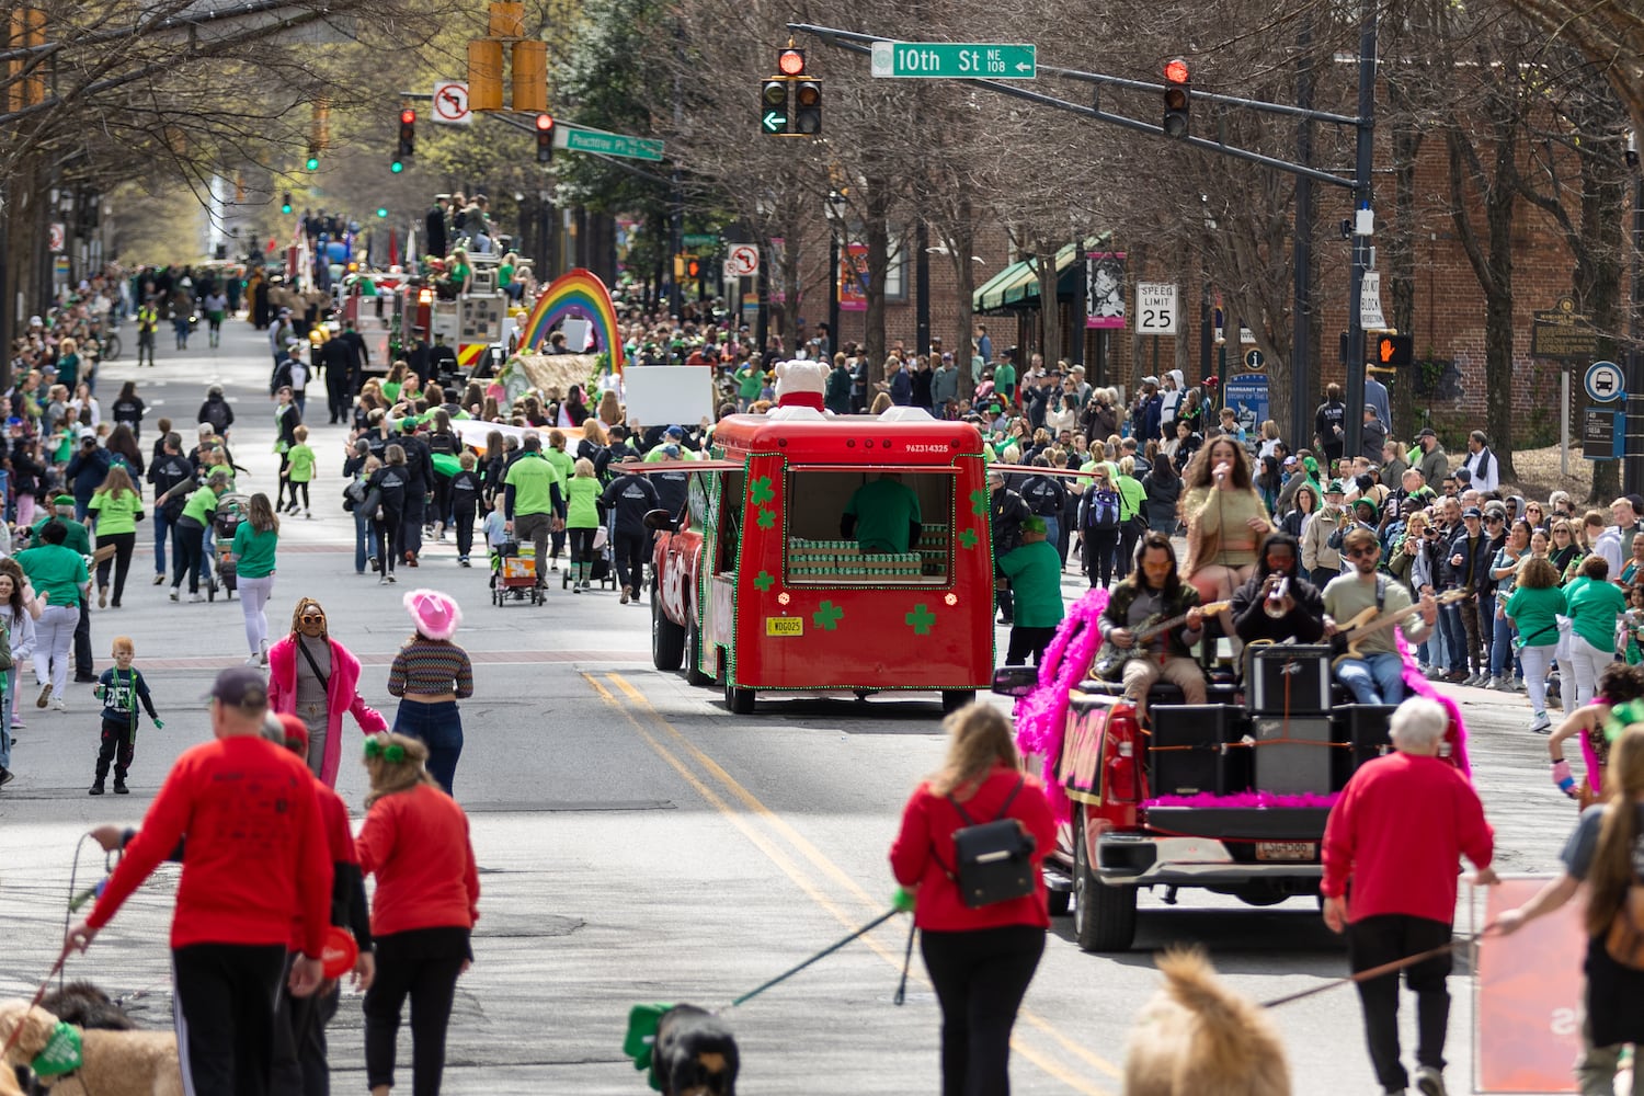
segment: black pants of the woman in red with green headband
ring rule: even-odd
[[[439,1096],[446,1025],[469,958],[467,928],[413,928],[376,937],[376,981],[365,991],[365,1083],[395,1083],[399,1009],[411,997],[411,1093]]]

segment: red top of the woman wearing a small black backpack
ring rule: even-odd
[[[1024,774],[995,766],[977,794],[962,800],[972,822],[993,822],[1000,807]],[[954,804],[937,795],[929,784],[921,784],[903,810],[903,830],[891,845],[891,873],[904,887],[917,887],[914,894],[914,923],[935,932],[963,932],[968,928],[998,928],[1001,925],[1037,925],[1049,928],[1051,910],[1046,905],[1044,873],[1037,871],[1044,858],[1055,848],[1055,818],[1044,797],[1044,785],[1026,777],[1016,799],[1011,800],[1008,818],[1028,827],[1036,841],[1032,861],[1037,886],[1029,897],[995,902],[980,909],[965,905],[958,886],[947,877],[954,868],[954,830],[965,827]]]

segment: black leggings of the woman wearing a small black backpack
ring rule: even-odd
[[[1044,928],[919,933],[942,1006],[942,1096],[1009,1096],[1011,1027],[1044,955]]]

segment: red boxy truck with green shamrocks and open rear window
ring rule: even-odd
[[[722,419],[710,457],[669,462],[689,477],[686,503],[646,518],[658,669],[684,662],[738,715],[756,697],[880,690],[937,692],[952,710],[988,685],[993,549],[975,427],[917,408],[778,408]],[[858,488],[886,477],[917,500],[904,552],[842,532]]]

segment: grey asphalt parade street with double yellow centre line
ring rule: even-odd
[[[250,470],[237,490],[273,495],[270,365],[265,334],[235,319],[220,350],[201,338],[187,352],[163,352],[156,368],[136,370],[130,357],[105,363],[97,391],[107,401],[120,381],[138,381],[150,408],[146,454],[161,416],[173,419],[186,450],[206,388],[224,385],[237,416],[235,460]],[[319,455],[314,516],[281,518],[273,636],[289,629],[299,595],[317,598],[332,634],[365,665],[360,692],[390,721],[395,700],[385,684],[409,634],[408,590],[436,587],[460,601],[457,642],[473,657],[455,797],[470,817],[482,899],[475,963],[459,983],[450,1024],[446,1091],[643,1093],[643,1075],[621,1053],[631,1006],[725,1009],[888,909],[886,850],[899,812],[944,751],[934,697],[776,700],[735,716],[718,690],[651,669],[648,598],[621,606],[615,590],[600,588],[572,596],[554,573],[544,606],[498,608],[480,552],[473,569],[459,569],[449,542],[429,544],[419,569],[401,567],[396,587],[378,585],[353,570],[353,519],[342,511],[339,477],[347,427],[326,424],[317,383],[307,409]],[[56,958],[71,873],[77,869],[77,889],[100,877],[102,853],[79,846],[81,836],[97,823],[138,823],[171,761],[209,736],[202,697],[214,674],[245,659],[238,600],[219,593],[214,603],[189,603],[184,593],[169,601],[168,587],[150,585],[151,552],[151,527],[138,526],[125,606],[92,610],[95,669],[110,665],[115,636],[130,636],[164,720],[164,730],[145,723],[130,797],[85,794],[99,728],[90,687],[71,687],[66,713],[39,710],[31,672],[21,675],[18,779],[0,792],[0,997],[33,994]],[[1069,598],[1083,585],[1072,569]],[[1498,869],[1552,871],[1575,812],[1547,779],[1545,739],[1524,730],[1524,698],[1478,688],[1453,695],[1463,702],[1475,779],[1496,827]],[[358,820],[360,738],[352,720],[344,731],[337,789]],[[176,879],[174,868],[156,873],[66,971],[127,997],[156,1029],[171,1024],[166,932]],[[1478,925],[1468,894],[1463,886],[1458,932]],[[1069,919],[1054,922],[1016,1025],[1018,1093],[1116,1093],[1133,1017],[1159,981],[1152,953],[1166,945],[1203,943],[1230,984],[1258,1001],[1346,973],[1345,951],[1310,899],[1254,909],[1184,892],[1182,905],[1166,907],[1144,896],[1139,925],[1134,951],[1098,956],[1077,948]],[[730,1009],[741,1045],[738,1088],[755,1096],[935,1091],[940,1014],[917,958],[906,1004],[893,1004],[906,940],[907,919],[893,919]],[[1452,1091],[1466,1091],[1473,1009],[1465,956],[1452,992],[1448,1075]],[[1373,1091],[1350,988],[1279,1009],[1274,1019],[1297,1093]],[[406,1029],[401,1061],[409,1061]],[[363,1091],[360,997],[352,991],[330,1024],[330,1063],[335,1091]]]

